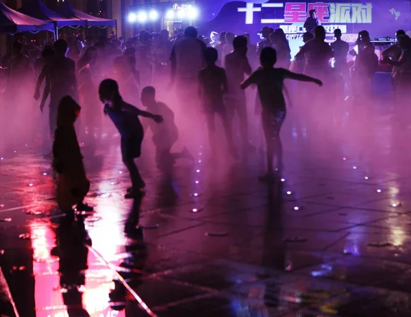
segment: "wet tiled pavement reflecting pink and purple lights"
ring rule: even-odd
[[[0,265],[18,315],[410,316],[408,127],[392,107],[372,113],[324,145],[286,127],[271,185],[258,151],[216,166],[199,147],[166,175],[143,157],[147,193],[129,201],[118,149],[86,153],[85,228],[58,211],[35,147],[1,153]]]

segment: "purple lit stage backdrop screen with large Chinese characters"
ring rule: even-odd
[[[318,1],[227,1],[197,0],[201,12],[202,34],[231,31],[250,34],[253,42],[264,26],[281,27],[289,40],[301,41],[308,12],[316,14],[327,31],[339,28],[345,40],[353,42],[359,31],[366,29],[372,38],[394,37],[397,29],[411,30],[410,0]]]

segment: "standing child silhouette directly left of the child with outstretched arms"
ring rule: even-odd
[[[208,47],[203,55],[207,66],[199,71],[199,97],[201,99],[203,112],[206,114],[210,146],[213,150],[216,145],[214,114],[219,114],[223,122],[229,151],[237,158],[238,155],[234,147],[232,127],[223,102],[223,94],[227,92],[227,76],[223,68],[216,66],[216,61],[219,59],[219,53],[216,49]]]

